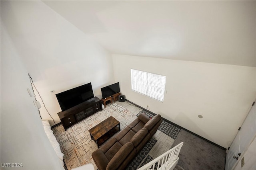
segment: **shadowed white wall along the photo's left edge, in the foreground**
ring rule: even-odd
[[[1,13],[1,169],[63,169],[27,88],[32,90],[27,70],[2,23]],[[23,167],[5,168],[7,163],[22,163]]]

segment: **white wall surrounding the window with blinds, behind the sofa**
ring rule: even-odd
[[[112,55],[126,98],[228,148],[256,98],[255,67]],[[130,69],[166,75],[164,102],[131,90]],[[203,118],[198,118],[202,115]]]

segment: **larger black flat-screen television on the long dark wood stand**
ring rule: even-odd
[[[56,94],[56,98],[60,104],[62,111],[70,109],[86,100],[94,98],[92,84],[84,84],[76,88]]]

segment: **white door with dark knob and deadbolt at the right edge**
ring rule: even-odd
[[[256,104],[252,106],[226,154],[225,170],[232,170],[256,135]],[[235,157],[235,158],[234,158]]]

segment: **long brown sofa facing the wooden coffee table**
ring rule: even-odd
[[[161,115],[155,115],[150,119],[147,115],[140,114],[118,135],[92,153],[98,169],[124,170],[156,133],[161,123]]]

